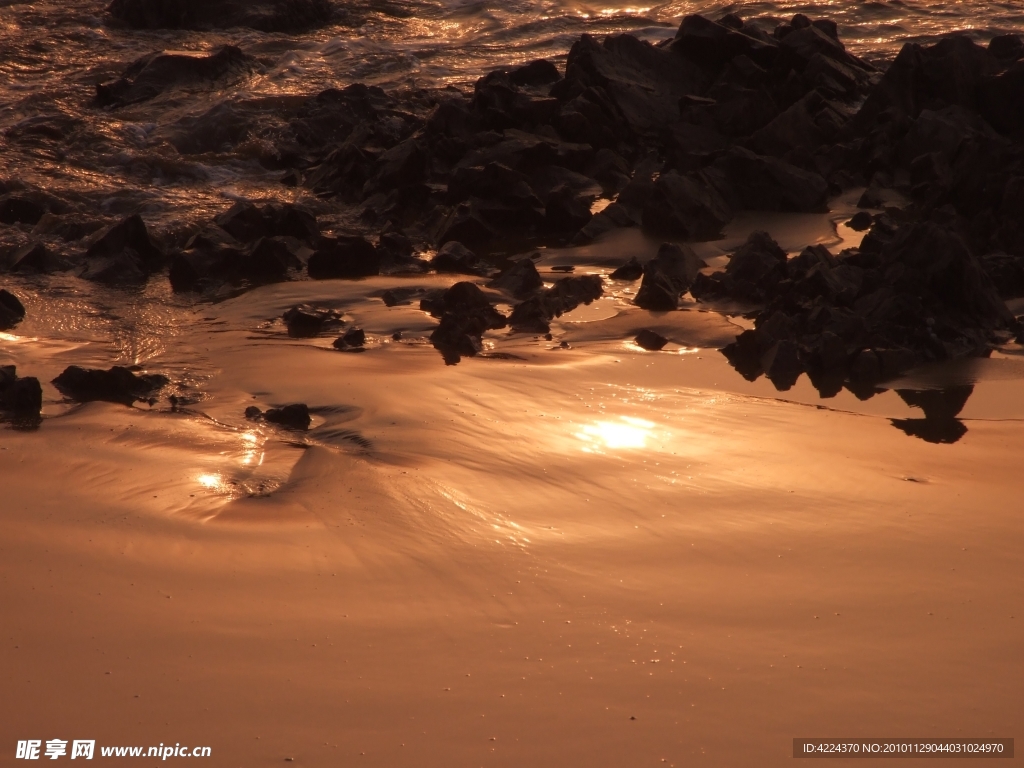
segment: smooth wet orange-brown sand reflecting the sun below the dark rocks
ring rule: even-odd
[[[542,274],[573,261],[606,271],[562,252]],[[947,372],[976,385],[968,432],[933,444],[894,429],[915,415],[894,392],[744,382],[715,351],[741,317],[651,314],[628,286],[561,318],[569,348],[502,338],[444,367],[425,313],[373,296],[452,278],[141,295],[127,335],[69,280],[72,309],[5,337],[19,366],[120,352],[202,397],[70,407],[47,386],[43,428],[0,433],[7,742],[769,766],[796,736],[1020,731],[1016,345]],[[270,321],[299,301],[369,350],[289,339]],[[643,352],[633,326],[672,343]],[[242,418],[292,401],[308,433]]]

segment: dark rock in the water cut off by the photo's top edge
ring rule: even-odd
[[[330,0],[114,0],[106,12],[143,30],[299,32],[330,22],[334,8]]]

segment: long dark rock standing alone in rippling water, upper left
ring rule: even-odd
[[[171,88],[240,77],[261,69],[252,56],[225,45],[209,56],[151,53],[132,62],[120,79],[96,86],[100,106],[123,106],[159,96]]]

